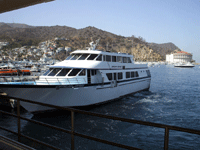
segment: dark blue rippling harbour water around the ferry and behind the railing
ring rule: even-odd
[[[174,68],[170,65],[150,67],[152,80],[149,91],[131,94],[96,107],[85,108],[90,112],[124,118],[173,125],[200,130],[200,67]],[[5,110],[16,114],[16,110]],[[71,129],[70,113],[55,111],[32,115],[21,111],[23,117]],[[17,131],[17,119],[0,114],[0,126]],[[75,113],[75,131],[133,146],[145,150],[159,150],[164,147],[164,129],[124,123],[99,117]],[[70,149],[71,135],[21,121],[24,135],[39,139],[60,149]],[[11,133],[0,130],[0,134],[17,139]],[[28,140],[23,140],[37,149],[48,149]],[[104,150],[121,148],[102,144],[75,136],[77,150]],[[200,149],[200,135],[169,132],[169,149]]]

